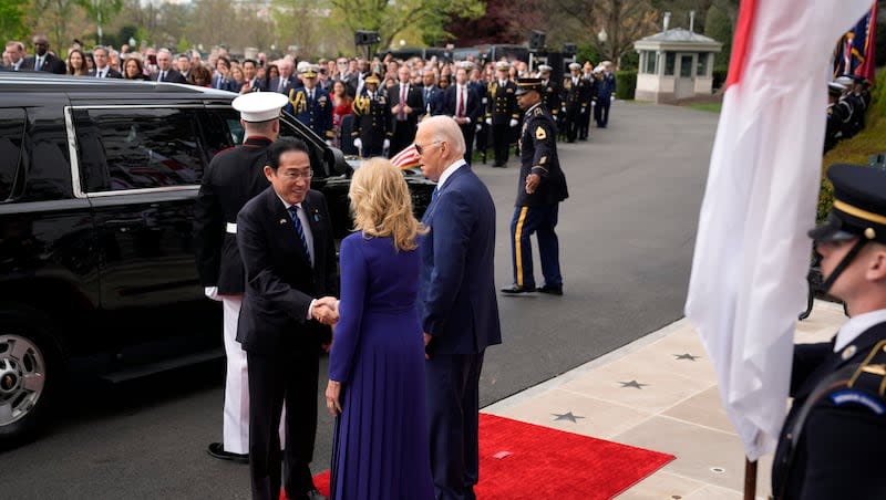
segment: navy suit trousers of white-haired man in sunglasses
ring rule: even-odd
[[[476,500],[483,354],[435,354],[425,362],[431,472],[436,500]]]

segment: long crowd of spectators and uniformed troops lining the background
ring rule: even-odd
[[[493,150],[493,166],[505,167],[519,136],[522,111],[515,98],[517,77],[537,76],[543,100],[558,127],[558,138],[587,140],[591,116],[600,128],[609,121],[615,94],[612,64],[571,63],[555,80],[546,64],[530,69],[526,61],[465,61],[412,58],[406,61],[360,56],[298,61],[291,55],[268,60],[267,54],[238,60],[215,48],[204,60],[198,51],[173,53],[145,46],[120,50],[75,42],[56,55],[44,35],[32,39],[33,51],[10,41],[0,70],[47,71],[58,74],[190,84],[236,93],[277,92],[286,110],[330,145],[361,157],[394,157],[412,143],[424,116],[447,115],[464,134],[465,160],[474,150],[484,163]]]

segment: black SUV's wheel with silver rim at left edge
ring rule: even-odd
[[[27,442],[50,421],[65,363],[50,321],[0,304],[0,449]]]

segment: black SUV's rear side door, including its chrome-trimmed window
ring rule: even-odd
[[[219,345],[222,314],[203,295],[192,246],[194,200],[208,162],[202,110],[66,110],[81,176],[75,190],[90,200],[97,231],[104,334],[121,368]]]

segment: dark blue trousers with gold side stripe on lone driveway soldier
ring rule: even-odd
[[[559,240],[554,228],[557,227],[559,204],[533,207],[516,207],[511,220],[511,249],[514,256],[514,284],[517,287],[535,287],[533,275],[533,249],[529,236],[538,237],[538,257],[542,261],[542,274],[548,287],[563,285],[560,275]]]

